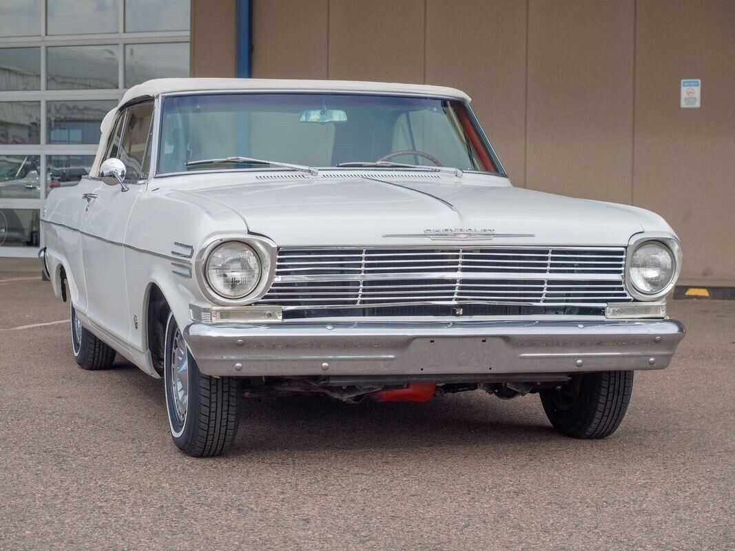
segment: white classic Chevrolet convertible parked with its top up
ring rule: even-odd
[[[634,206],[512,187],[459,90],[161,79],[102,123],[41,252],[87,370],[165,380],[176,445],[217,455],[243,397],[538,393],[601,438],[667,367],[681,248]]]

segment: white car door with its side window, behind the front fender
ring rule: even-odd
[[[146,190],[153,104],[118,115],[105,159],[126,167],[124,186],[99,181],[82,220],[82,256],[87,280],[87,317],[122,345],[129,343],[132,319],[125,270],[125,234],[133,205]]]

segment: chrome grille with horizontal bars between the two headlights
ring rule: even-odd
[[[282,248],[261,303],[604,306],[631,300],[624,248]]]

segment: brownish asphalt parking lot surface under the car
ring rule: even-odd
[[[115,292],[110,281],[110,292]],[[555,433],[537,396],[245,402],[228,455],[171,442],[162,381],[76,367],[67,306],[0,267],[0,549],[731,550],[735,302],[639,372],[617,433]]]

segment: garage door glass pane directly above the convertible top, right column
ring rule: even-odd
[[[125,87],[149,79],[189,76],[189,43],[126,44]]]

